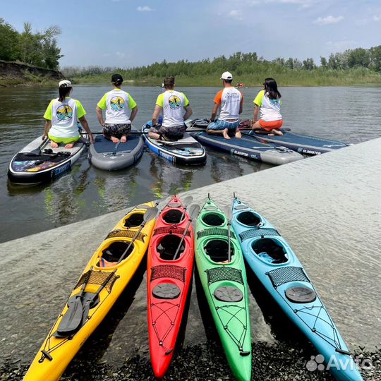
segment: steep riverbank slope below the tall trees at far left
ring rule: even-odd
[[[57,80],[62,78],[60,71],[0,60],[0,87],[56,86]]]

